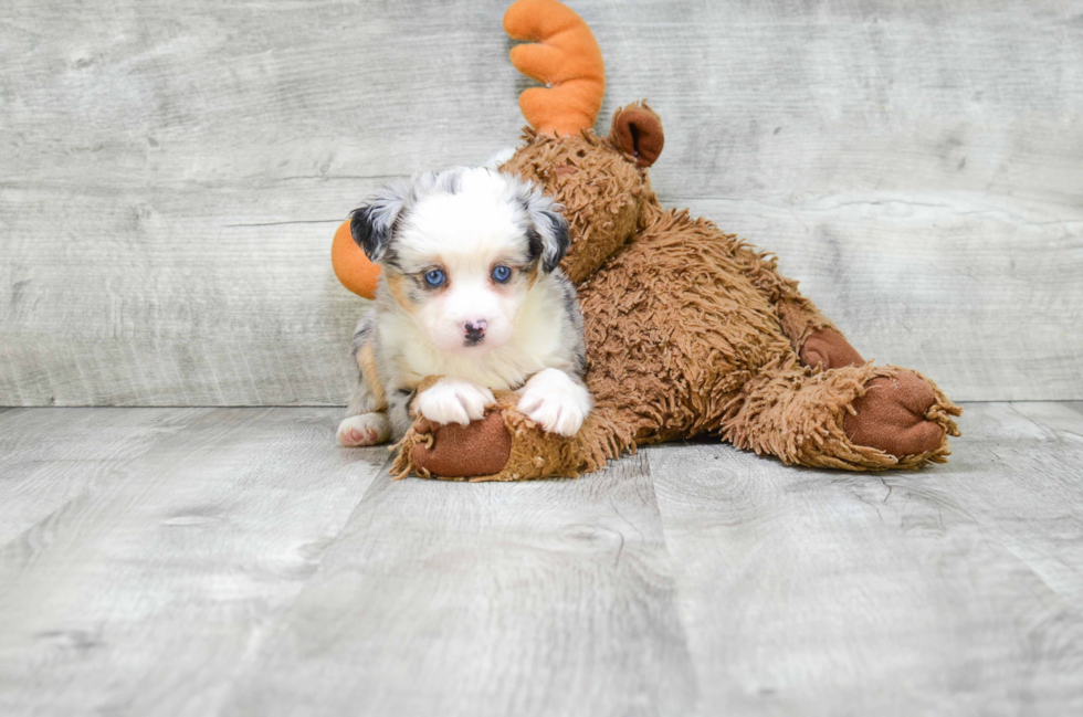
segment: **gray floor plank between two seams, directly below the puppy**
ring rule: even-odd
[[[381,478],[227,711],[681,715],[696,690],[651,477]]]

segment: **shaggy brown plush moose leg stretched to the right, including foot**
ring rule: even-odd
[[[961,411],[895,367],[766,370],[730,404],[723,436],[787,464],[877,471],[944,463]]]

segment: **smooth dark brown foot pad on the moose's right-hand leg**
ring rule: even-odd
[[[945,432],[927,415],[935,403],[933,387],[926,380],[900,370],[869,382],[865,394],[853,402],[855,413],[843,420],[843,430],[854,445],[896,457],[935,451]]]

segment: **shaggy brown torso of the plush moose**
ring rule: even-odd
[[[772,263],[687,212],[650,213],[579,294],[587,386],[639,443],[717,432],[761,367],[797,360],[770,303]]]

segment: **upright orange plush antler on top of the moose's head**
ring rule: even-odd
[[[504,31],[532,44],[512,48],[512,64],[547,87],[519,95],[519,109],[539,133],[578,135],[595,126],[606,94],[606,63],[582,18],[557,0],[517,0]]]

